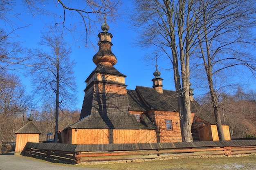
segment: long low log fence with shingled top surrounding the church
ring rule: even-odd
[[[198,141],[148,144],[53,144],[28,142],[23,154],[70,163],[172,159],[256,154],[256,140]]]

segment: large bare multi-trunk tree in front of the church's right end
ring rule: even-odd
[[[196,0],[135,0],[132,19],[140,33],[138,43],[155,46],[155,51],[167,56],[172,63],[175,90],[180,113],[182,141],[191,141],[190,56],[196,40],[198,9]],[[193,48],[192,48],[193,47]]]

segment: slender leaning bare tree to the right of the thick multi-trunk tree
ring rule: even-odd
[[[247,50],[249,45],[256,42],[249,32],[255,25],[256,3],[251,0],[201,0],[198,8],[201,9],[197,16],[199,57],[207,75],[218,136],[220,140],[225,140],[220,115],[220,92],[217,91],[222,82],[216,82],[223,75],[227,76],[229,68],[234,71],[236,66],[239,69],[245,66],[252,73],[256,71],[255,59],[250,57]]]

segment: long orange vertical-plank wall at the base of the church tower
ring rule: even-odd
[[[70,129],[61,132],[65,144],[130,144],[156,142],[155,130],[147,129]]]

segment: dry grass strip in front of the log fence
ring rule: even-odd
[[[28,157],[36,159],[35,157]],[[57,163],[47,159],[36,159],[53,163],[58,166],[75,166],[84,168],[99,168],[107,170],[256,170],[256,155],[246,157],[222,158],[182,158],[161,161],[145,161],[132,163],[114,163],[101,165],[71,165]]]

